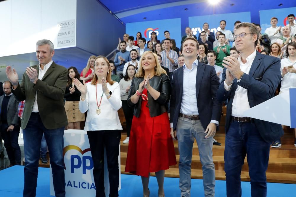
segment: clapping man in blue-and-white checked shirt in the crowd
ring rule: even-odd
[[[173,77],[173,71],[174,66],[178,65],[178,54],[176,51],[173,51],[170,49],[170,39],[165,38],[164,40],[165,48],[163,51],[161,51],[160,55],[163,61],[163,67],[169,69],[168,76],[170,77],[170,80],[172,80]]]

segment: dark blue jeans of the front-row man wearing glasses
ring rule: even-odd
[[[260,136],[255,123],[233,121],[225,136],[225,173],[227,197],[242,196],[241,171],[247,155],[252,197],[266,197],[265,172],[268,166],[270,143]]]

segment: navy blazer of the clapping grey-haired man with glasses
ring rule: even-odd
[[[252,108],[274,97],[274,92],[281,81],[280,68],[281,61],[279,58],[262,55],[257,51],[249,74],[244,73],[239,83],[237,83],[237,79],[234,79],[229,91],[226,91],[224,88],[224,81],[226,79],[226,70],[224,69],[223,79],[217,92],[217,98],[219,101],[225,101],[228,98],[225,126],[226,132],[229,129],[231,121],[230,115],[232,111],[232,102],[237,85],[248,90],[248,100],[250,107]],[[260,135],[266,142],[271,143],[284,134],[280,124],[259,119],[253,120]]]

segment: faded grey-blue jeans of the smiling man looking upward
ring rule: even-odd
[[[180,153],[179,174],[181,196],[190,197],[191,160],[194,138],[197,141],[202,164],[205,197],[215,196],[215,165],[213,163],[213,138],[205,139],[206,133],[200,120],[180,118],[177,123],[178,148]]]

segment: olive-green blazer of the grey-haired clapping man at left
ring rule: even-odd
[[[37,69],[39,66],[31,66]],[[44,74],[43,78],[36,84],[30,82],[26,72],[22,76],[21,84],[18,84],[12,93],[17,100],[26,100],[26,105],[22,115],[21,128],[27,126],[32,113],[35,94],[37,93],[37,103],[41,121],[47,129],[56,129],[68,124],[64,107],[64,94],[67,85],[67,69],[54,62]]]

